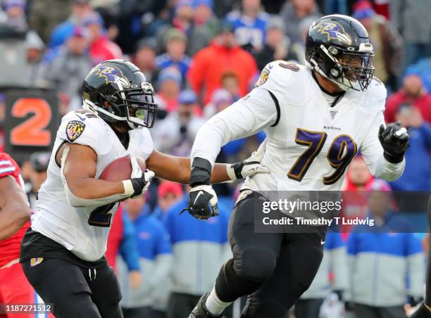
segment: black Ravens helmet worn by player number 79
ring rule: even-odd
[[[365,91],[373,79],[373,46],[357,20],[346,15],[320,18],[306,36],[306,61],[340,89]]]

